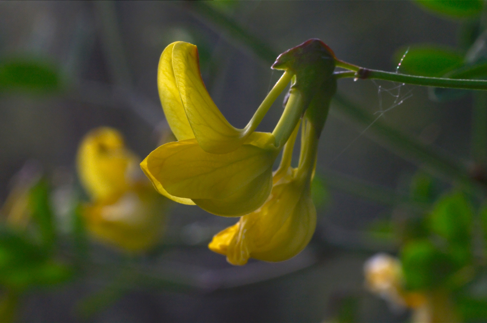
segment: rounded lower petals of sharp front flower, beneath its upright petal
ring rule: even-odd
[[[272,187],[272,165],[278,154],[274,137],[253,133],[239,149],[226,154],[205,152],[196,139],[160,146],[141,167],[155,187],[191,199],[213,214],[240,216],[261,206]]]

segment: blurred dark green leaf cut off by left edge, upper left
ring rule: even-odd
[[[59,83],[56,69],[44,62],[20,58],[0,61],[0,92],[52,91]]]

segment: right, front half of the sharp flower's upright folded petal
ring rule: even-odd
[[[195,45],[177,42],[172,49],[172,68],[187,120],[201,148],[208,153],[230,153],[250,132],[233,127],[211,99],[201,78]]]

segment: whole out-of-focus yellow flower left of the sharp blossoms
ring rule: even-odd
[[[154,245],[161,236],[164,199],[138,169],[139,159],[115,129],[100,127],[81,141],[77,169],[92,203],[83,208],[94,238],[129,252]]]

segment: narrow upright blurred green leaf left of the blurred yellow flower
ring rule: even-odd
[[[46,179],[41,179],[30,192],[32,217],[36,221],[42,245],[51,248],[56,241],[53,212],[49,199],[50,187]]]

